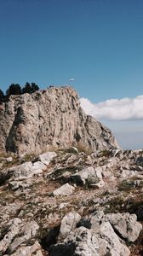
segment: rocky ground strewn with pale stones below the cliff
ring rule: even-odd
[[[143,151],[0,156],[0,255],[143,255]]]

